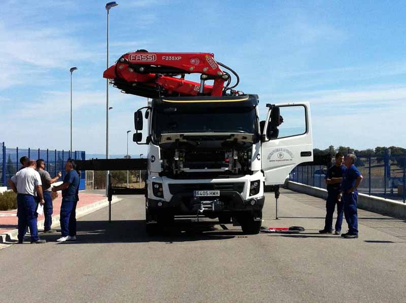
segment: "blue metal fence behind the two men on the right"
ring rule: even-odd
[[[360,156],[355,165],[363,176],[358,192],[406,202],[406,155]],[[289,179],[319,188],[326,188],[326,166],[298,166]]]

